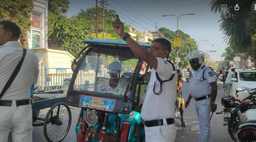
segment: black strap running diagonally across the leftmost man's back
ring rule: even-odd
[[[0,94],[0,100],[1,98],[3,97],[4,93],[7,91],[7,89],[12,85],[12,82],[13,80],[16,78],[17,74],[19,73],[20,71],[20,68],[21,68],[21,65],[24,61],[24,58],[26,56],[26,53],[27,53],[27,49],[24,49],[23,48],[23,55],[22,55],[22,58],[20,59],[20,62],[18,63],[18,65],[16,66],[16,68],[14,69],[11,77],[9,78],[9,80],[7,81],[7,83],[5,84],[1,94]]]

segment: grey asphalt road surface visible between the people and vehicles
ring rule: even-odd
[[[182,94],[185,99],[185,101],[188,98],[189,95],[189,85],[190,82],[184,82],[182,87]],[[223,106],[220,104],[221,97],[225,96],[224,89],[222,89],[223,83],[218,82],[218,96],[216,99],[216,104],[218,105],[218,111],[221,111],[223,109]],[[184,121],[186,123],[186,127],[181,127],[180,120],[177,120],[176,123],[176,129],[177,129],[177,136],[175,142],[197,142],[198,141],[198,135],[199,135],[199,124],[198,119],[196,115],[196,109],[195,109],[195,103],[194,99],[190,101],[189,107],[184,109]],[[76,142],[76,132],[75,132],[75,125],[77,116],[79,115],[80,108],[70,107],[72,112],[72,123],[70,130],[68,132],[67,137],[63,140],[63,142]],[[45,117],[48,109],[44,109],[40,111],[39,117]],[[223,118],[220,117],[220,115],[213,114],[212,120],[211,120],[211,130],[212,130],[212,142],[232,142],[232,139],[230,138],[227,126],[223,126]],[[190,129],[189,131],[185,131],[185,129]],[[43,126],[41,127],[33,127],[33,141],[35,142],[46,142],[44,138],[43,133]],[[9,141],[10,138],[9,138]]]

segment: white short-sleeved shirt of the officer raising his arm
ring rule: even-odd
[[[161,80],[167,80],[172,76],[173,67],[167,62],[166,58],[157,57],[157,70],[151,69],[151,77],[147,87],[147,94],[142,105],[141,117],[144,121],[158,120],[164,118],[174,118],[174,106],[176,102],[177,71],[171,81],[164,82],[163,91],[160,95],[153,92],[160,91],[160,82],[156,79],[156,72]]]

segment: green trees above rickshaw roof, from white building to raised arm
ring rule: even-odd
[[[99,9],[99,13],[102,12]],[[70,18],[61,14],[48,12],[48,44],[49,48],[60,49],[70,52],[76,56],[84,48],[83,41],[87,38],[96,38],[95,31],[92,31],[92,25],[95,23],[96,8],[88,8],[86,11],[80,10],[77,15]],[[105,27],[108,35],[104,38],[121,39],[116,34],[111,22],[116,18],[116,12],[105,10]],[[99,25],[102,25],[102,18],[98,18]],[[125,31],[129,31],[128,26],[124,26]],[[102,38],[102,32],[99,29],[98,38]]]

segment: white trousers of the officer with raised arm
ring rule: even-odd
[[[146,142],[174,142],[176,138],[175,124],[167,125],[164,119],[163,126],[146,127]]]

